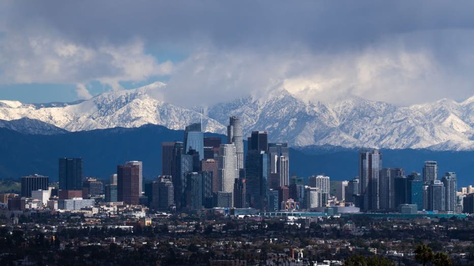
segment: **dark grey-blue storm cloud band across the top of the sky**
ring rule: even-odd
[[[8,27],[55,29],[77,43],[148,42],[218,47],[298,42],[364,46],[393,34],[472,28],[474,2],[446,1],[14,1]]]

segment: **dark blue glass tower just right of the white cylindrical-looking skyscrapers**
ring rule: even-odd
[[[245,160],[247,202],[251,208],[263,210],[268,204],[269,158],[260,150],[248,150]]]

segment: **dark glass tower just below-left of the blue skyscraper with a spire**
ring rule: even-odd
[[[176,155],[176,177],[172,177],[174,186],[174,201],[176,207],[186,207],[186,175],[193,172],[193,156],[178,153]]]

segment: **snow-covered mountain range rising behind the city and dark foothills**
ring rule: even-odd
[[[183,129],[200,120],[193,109],[160,100],[160,82],[134,90],[107,92],[71,104],[22,104],[0,101],[0,119],[37,119],[69,131],[159,124]],[[158,96],[157,96],[158,95]],[[293,146],[348,148],[429,148],[474,150],[474,96],[407,108],[349,97],[336,103],[307,103],[285,89],[255,98],[205,107],[203,129],[224,133],[229,116],[240,116],[244,135],[269,131],[272,141]]]

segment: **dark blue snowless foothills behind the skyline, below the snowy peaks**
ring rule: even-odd
[[[24,122],[43,123],[27,119]],[[9,123],[4,121],[1,124]],[[77,132],[64,130],[48,135],[26,134],[12,127],[0,127],[0,180],[17,180],[21,176],[41,174],[49,176],[51,181],[57,181],[58,158],[61,157],[83,158],[85,176],[106,180],[110,174],[116,173],[118,164],[140,160],[143,161],[143,177],[156,179],[161,174],[161,143],[181,141],[184,136],[183,130],[153,124]],[[206,133],[205,136],[220,137],[226,141],[225,135]],[[458,186],[472,184],[474,151],[382,149],[381,153],[383,167],[403,167],[406,173],[421,172],[425,160],[435,160],[439,164],[440,176],[445,172],[456,172]],[[306,146],[290,148],[289,157],[290,175],[307,178],[325,174],[331,180],[349,180],[359,175],[359,149],[330,145]]]

